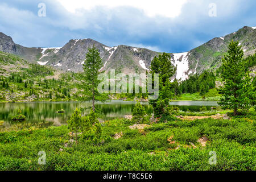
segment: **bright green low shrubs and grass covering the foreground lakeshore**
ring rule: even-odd
[[[255,170],[255,118],[232,120],[168,119],[144,131],[131,130],[131,121],[102,123],[100,143],[79,139],[67,148],[67,126],[30,127],[0,133],[0,170]],[[123,133],[114,139],[115,133]],[[173,136],[174,144],[168,142]],[[209,139],[202,147],[197,139]],[[189,148],[191,142],[197,148]],[[179,149],[175,148],[180,146]],[[59,151],[63,148],[64,151]],[[38,152],[46,152],[46,165],[38,164]],[[210,165],[209,152],[217,154]]]

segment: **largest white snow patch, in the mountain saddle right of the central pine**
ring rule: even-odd
[[[182,53],[173,53],[174,60],[172,61],[172,64],[177,67],[176,71],[176,79],[181,81],[186,80],[188,78],[188,52],[182,52]],[[181,59],[181,60],[180,60]]]

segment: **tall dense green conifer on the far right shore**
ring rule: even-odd
[[[247,97],[250,88],[250,78],[243,50],[238,42],[230,42],[228,54],[222,57],[221,78],[224,85],[219,89],[223,95],[220,104],[222,109],[233,109],[237,115],[238,109],[244,109],[249,104]]]

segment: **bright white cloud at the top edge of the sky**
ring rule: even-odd
[[[187,2],[187,0],[171,1],[171,0],[130,0],[130,1],[120,1],[120,0],[57,0],[61,5],[65,7],[71,13],[79,14],[80,9],[92,10],[94,7],[102,6],[106,8],[114,8],[120,6],[135,7],[137,9],[143,10],[148,16],[162,15],[168,18],[174,18],[179,16],[181,13],[182,6]]]

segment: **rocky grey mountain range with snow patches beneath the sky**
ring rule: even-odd
[[[215,69],[221,65],[221,57],[228,49],[230,41],[238,41],[245,56],[256,51],[256,27],[243,27],[237,32],[217,37],[188,52],[170,53],[172,64],[177,67],[174,78],[185,80],[189,75],[201,73],[205,69]],[[142,73],[160,52],[131,46],[108,47],[93,39],[72,39],[63,47],[28,48],[14,43],[10,36],[0,32],[0,51],[13,53],[30,63],[50,65],[64,72],[81,72],[88,48],[95,46],[100,52],[104,67],[102,71]]]

